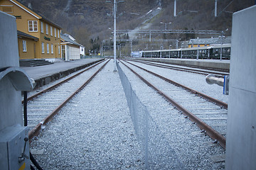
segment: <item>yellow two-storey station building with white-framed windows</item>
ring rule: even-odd
[[[0,0],[0,10],[16,17],[20,60],[61,57],[60,26],[15,0]]]

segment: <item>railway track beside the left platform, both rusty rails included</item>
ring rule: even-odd
[[[78,72],[72,77],[60,81],[58,84],[33,94],[28,97],[27,120],[29,140],[39,134],[46,124],[53,119],[53,116],[70,101],[75,94],[78,94],[96,75],[108,61],[99,62],[88,67],[82,72]]]

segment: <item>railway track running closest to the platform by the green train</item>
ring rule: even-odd
[[[174,69],[181,72],[191,72],[191,73],[203,74],[203,75],[214,74],[216,77],[224,77],[226,75],[229,75],[229,72],[223,72],[223,71],[220,72],[218,70],[211,71],[209,69],[203,69],[198,67],[191,68],[191,66],[178,66],[178,65],[174,66],[171,64],[159,64],[156,62],[148,62],[148,61],[142,61],[142,60],[128,60],[128,61],[139,62],[139,63],[148,64],[151,66],[161,67],[166,69]]]

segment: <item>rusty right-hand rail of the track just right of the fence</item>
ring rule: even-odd
[[[126,61],[126,62],[127,62],[127,61]],[[130,62],[127,62],[127,63],[132,64],[132,63],[130,63]],[[171,79],[167,79],[166,77],[162,77],[161,75],[156,74],[156,73],[154,73],[154,72],[151,72],[151,71],[149,71],[148,69],[144,69],[144,68],[142,68],[142,67],[139,67],[139,66],[137,66],[136,64],[132,64],[132,65],[135,66],[135,67],[138,67],[139,69],[144,70],[145,72],[149,72],[150,74],[153,74],[154,76],[159,77],[160,79],[163,79],[164,81],[167,81],[167,82],[169,82],[169,83],[171,83],[171,84],[174,84],[175,86],[180,86],[181,88],[185,89],[186,91],[190,92],[191,94],[196,94],[197,96],[201,96],[202,98],[205,98],[206,100],[208,100],[208,101],[210,101],[210,102],[212,102],[212,103],[215,103],[215,104],[217,104],[218,106],[221,106],[221,107],[223,107],[223,108],[225,108],[225,109],[228,109],[228,103],[224,103],[223,101],[219,101],[219,100],[216,99],[216,98],[212,98],[212,97],[210,97],[210,96],[208,96],[208,95],[206,95],[206,94],[203,94],[203,93],[201,93],[201,92],[199,92],[199,91],[193,90],[193,89],[191,89],[191,88],[189,88],[189,87],[187,87],[187,86],[184,86],[184,85],[182,85],[182,84],[179,84],[179,83],[177,83],[176,81],[172,81]]]

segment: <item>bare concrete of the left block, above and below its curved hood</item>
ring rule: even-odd
[[[16,18],[0,11],[0,69],[18,67]],[[9,79],[0,81],[0,131],[10,125],[23,125],[21,91],[16,91]],[[17,113],[20,113],[17,115]]]

